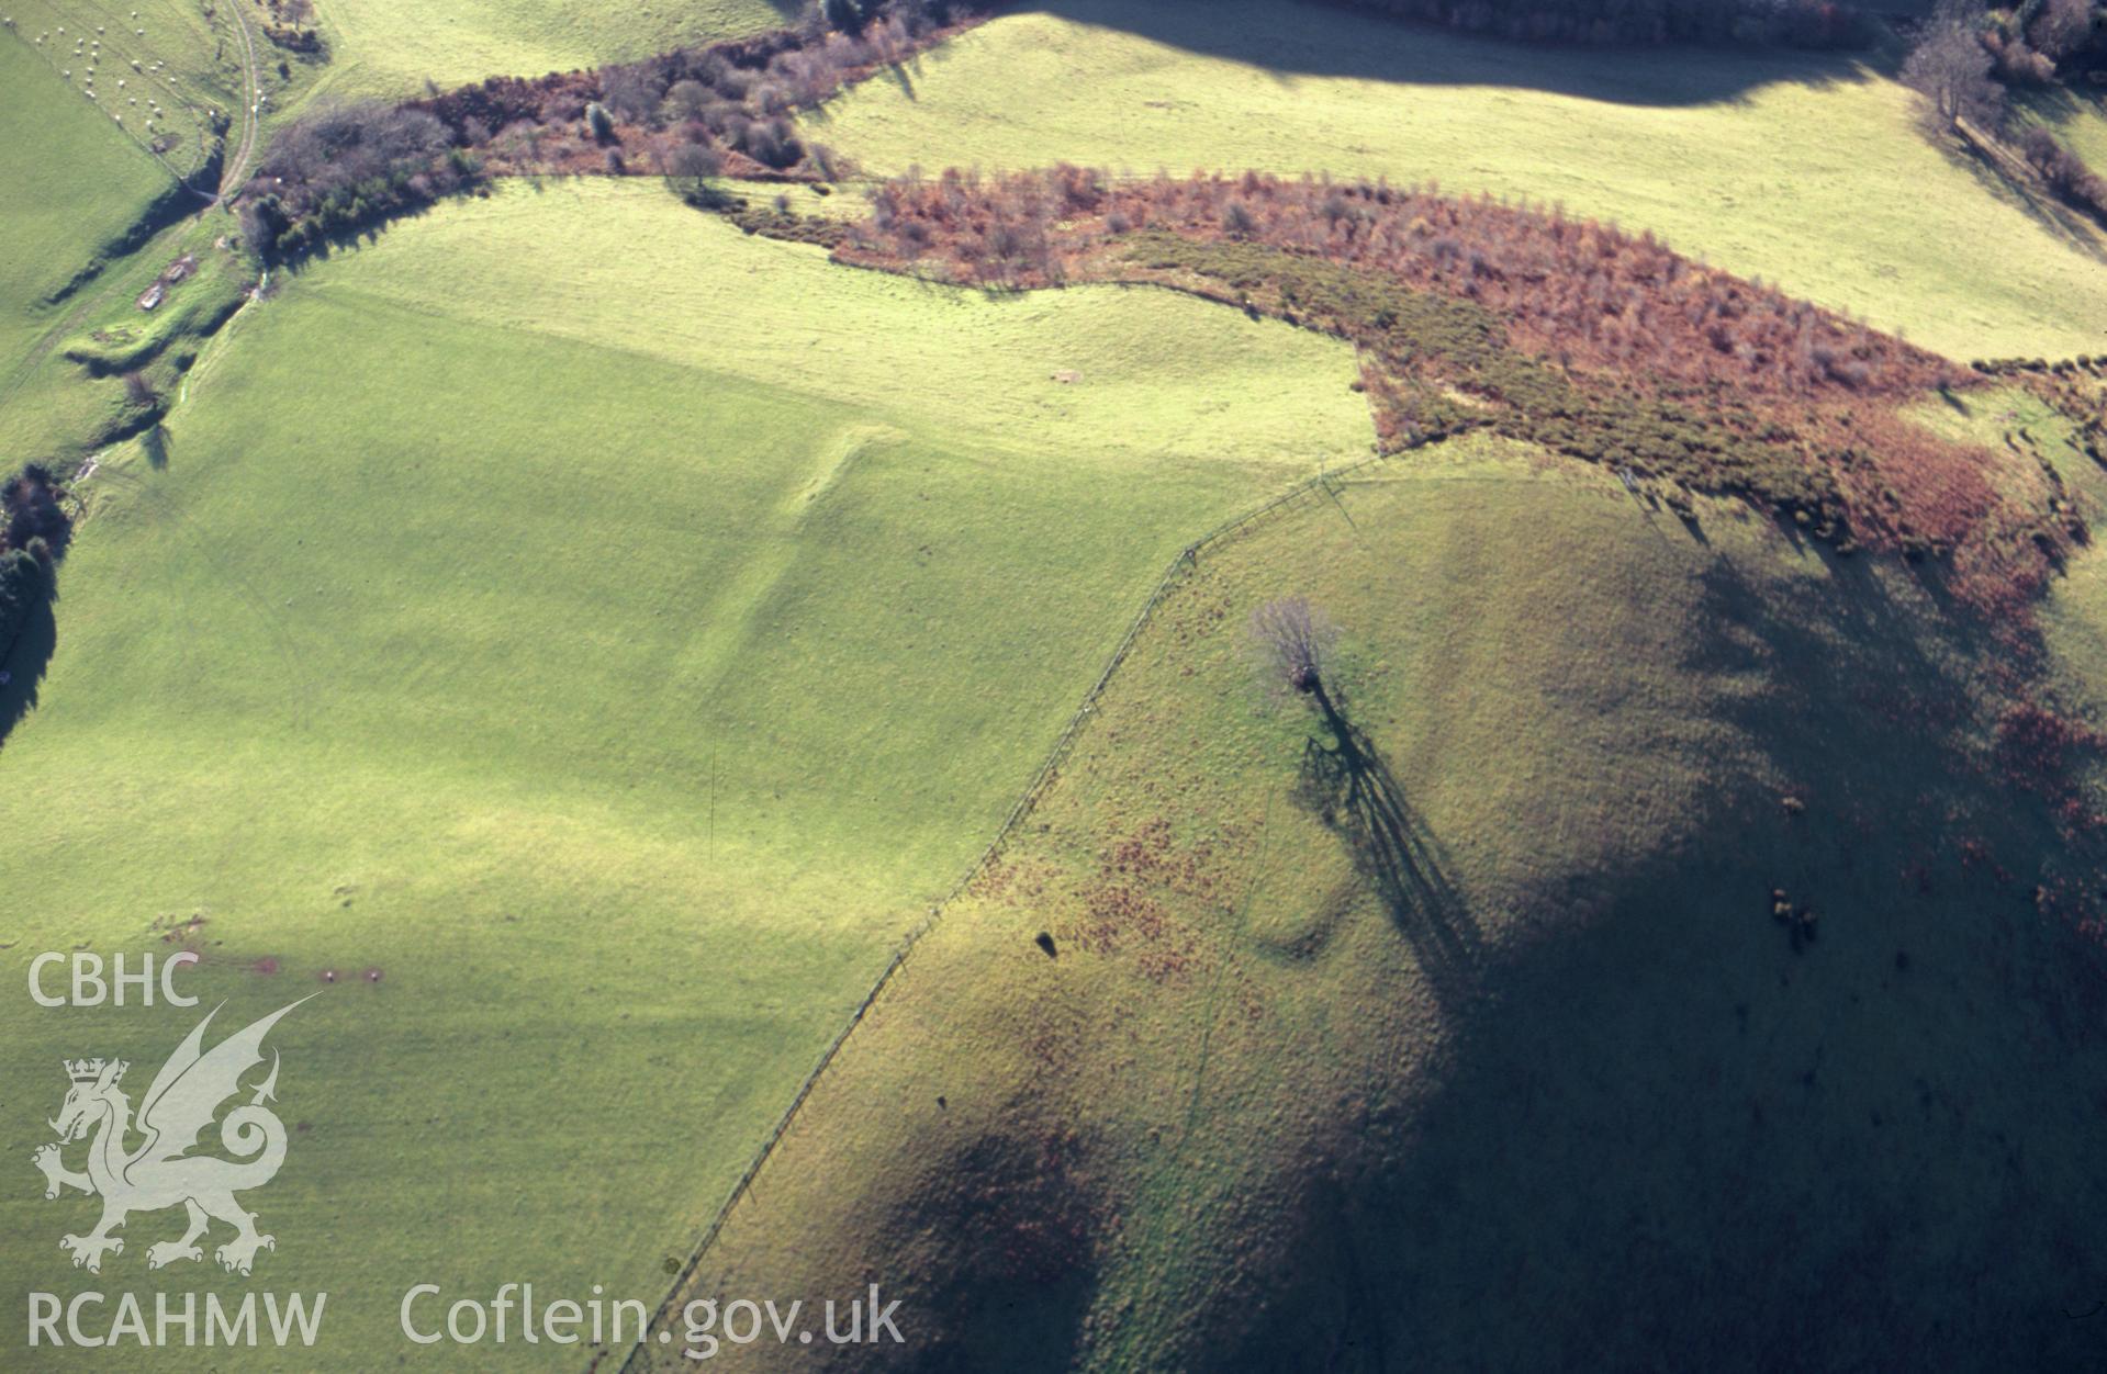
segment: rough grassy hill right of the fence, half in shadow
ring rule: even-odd
[[[2082,1359],[2096,974],[2025,900],[2061,843],[1981,773],[1978,647],[1700,510],[1462,445],[1207,550],[695,1292],[881,1273],[931,1368]],[[1283,594],[1359,797],[1254,674]]]

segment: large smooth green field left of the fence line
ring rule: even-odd
[[[1351,379],[1184,297],[927,289],[653,185],[400,223],[236,316],[91,478],[4,748],[6,976],[198,917],[223,1018],[322,990],[255,1205],[259,1275],[331,1294],[329,1368],[419,1355],[413,1281],[655,1300],[1163,563],[1365,451]],[[6,1005],[23,1157],[59,1058],[145,1077],[192,1020]],[[8,1283],[97,1283],[78,1201],[0,1199]]]

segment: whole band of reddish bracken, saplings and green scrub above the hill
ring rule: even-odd
[[[1054,166],[908,175],[836,247],[942,280],[1163,282],[1353,339],[1378,440],[1490,430],[1635,474],[1679,514],[1736,495],[1842,552],[1947,561],[1981,605],[2031,596],[2086,537],[2052,468],[1898,407],[1976,377],[1652,234],[1386,181]]]

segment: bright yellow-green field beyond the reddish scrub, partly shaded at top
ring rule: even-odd
[[[1903,86],[1837,59],[1532,48],[1275,0],[1058,0],[809,129],[872,173],[1435,179],[1652,230],[1964,360],[2107,346],[2107,240],[1928,145]]]

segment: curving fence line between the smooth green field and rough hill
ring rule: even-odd
[[[1429,438],[1416,445],[1407,445],[1407,449],[1422,447],[1424,443],[1439,443],[1439,438]],[[1165,596],[1169,596],[1178,588],[1178,584],[1186,577],[1186,573],[1190,573],[1197,567],[1199,556],[1207,552],[1214,544],[1220,544],[1222,539],[1249,529],[1258,521],[1264,521],[1266,516],[1277,514],[1296,502],[1302,502],[1317,493],[1332,493],[1336,489],[1336,483],[1342,483],[1344,478],[1355,476],[1357,472],[1384,464],[1391,457],[1397,457],[1397,453],[1370,453],[1365,457],[1353,459],[1351,464],[1319,470],[1315,476],[1296,483],[1287,491],[1281,491],[1279,495],[1222,521],[1214,529],[1205,531],[1203,535],[1186,544],[1184,550],[1180,550],[1178,556],[1171,558],[1171,565],[1163,569],[1163,577],[1157,580],[1157,586],[1155,590],[1148,592],[1148,598],[1142,603],[1142,609],[1136,611],[1134,620],[1127,624],[1127,632],[1119,636],[1119,647],[1115,647],[1112,655],[1104,662],[1104,670],[1098,672],[1098,681],[1091,683],[1089,691],[1083,693],[1083,704],[1077,706],[1075,714],[1068,717],[1068,723],[1062,727],[1060,735],[1056,735],[1054,746],[1039,763],[1039,769],[1032,773],[1030,782],[1026,782],[1024,790],[1018,794],[1016,805],[1009,807],[1009,813],[1003,818],[1003,824],[997,826],[995,839],[990,839],[988,847],[982,849],[980,856],[976,856],[973,862],[965,866],[965,872],[959,875],[959,881],[952,883],[950,889],[944,891],[944,896],[938,898],[927,912],[923,912],[923,919],[908,929],[908,934],[900,940],[900,946],[893,948],[893,957],[885,961],[885,969],[870,984],[870,990],[864,993],[864,999],[855,1005],[855,1012],[841,1026],[841,1030],[834,1033],[834,1039],[828,1041],[826,1049],[820,1052],[820,1058],[813,1062],[811,1071],[799,1083],[796,1094],[792,1094],[790,1104],[784,1106],[782,1115],[775,1119],[773,1130],[769,1130],[767,1138],[761,1142],[761,1149],[754,1151],[752,1159],[746,1163],[746,1170],[740,1174],[737,1182],[731,1184],[731,1191],[725,1195],[725,1201],[718,1203],[716,1214],[710,1218],[710,1224],[695,1239],[695,1245],[689,1250],[687,1260],[674,1275],[674,1281],[668,1288],[664,1302],[659,1302],[657,1311],[651,1313],[651,1321],[647,1321],[645,1328],[636,1334],[636,1344],[630,1347],[628,1357],[624,1357],[622,1361],[622,1374],[638,1374],[645,1368],[653,1334],[666,1328],[666,1315],[678,1304],[681,1294],[687,1288],[689,1279],[695,1277],[695,1271],[702,1267],[702,1256],[710,1252],[710,1245],[716,1243],[716,1237],[723,1233],[725,1222],[731,1220],[733,1210],[752,1191],[754,1180],[761,1176],[761,1170],[767,1165],[769,1157],[775,1153],[775,1146],[782,1142],[782,1138],[790,1132],[790,1125],[796,1121],[796,1115],[805,1106],[805,1100],[811,1096],[811,1090],[818,1087],[820,1079],[834,1064],[834,1058],[841,1054],[841,1047],[864,1022],[864,1016],[870,1014],[870,1007],[877,1005],[879,997],[891,984],[893,976],[902,967],[906,967],[908,955],[914,953],[914,946],[921,942],[921,938],[936,927],[936,923],[944,917],[946,910],[950,910],[950,904],[959,900],[959,896],[967,889],[967,885],[1001,856],[1011,835],[1016,835],[1018,824],[1022,824],[1024,818],[1032,813],[1032,807],[1039,805],[1039,799],[1045,794],[1045,790],[1060,773],[1060,765],[1068,759],[1068,750],[1075,746],[1077,738],[1089,723],[1091,714],[1096,714],[1098,698],[1104,695],[1104,689],[1110,685],[1112,674],[1119,672],[1119,666],[1127,660],[1127,653],[1134,649],[1136,641],[1142,636],[1142,630],[1155,617],[1157,607],[1163,605]]]

